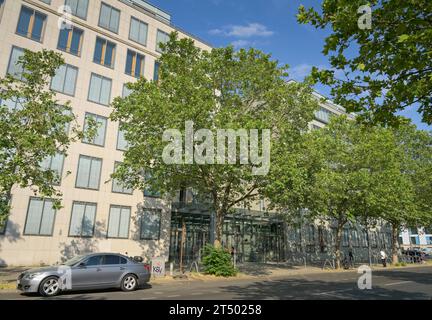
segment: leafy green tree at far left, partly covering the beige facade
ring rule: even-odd
[[[10,74],[0,79],[0,225],[9,215],[15,185],[52,197],[60,206],[61,192],[55,187],[60,177],[43,161],[66,155],[70,143],[82,137],[69,104],[59,105],[47,89],[63,63],[53,51],[25,50],[18,62],[20,79]]]

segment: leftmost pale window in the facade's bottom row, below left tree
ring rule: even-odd
[[[30,198],[24,235],[52,236],[56,211],[50,199]]]

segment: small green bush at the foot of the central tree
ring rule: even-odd
[[[237,274],[231,261],[231,254],[222,247],[215,248],[212,245],[206,245],[203,264],[206,274],[213,274],[217,277],[232,277]]]

